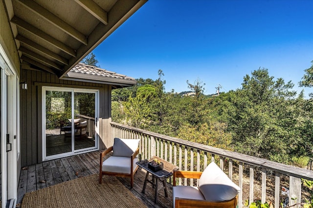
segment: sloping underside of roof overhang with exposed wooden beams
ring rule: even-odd
[[[4,2],[21,62],[62,78],[147,0]]]

